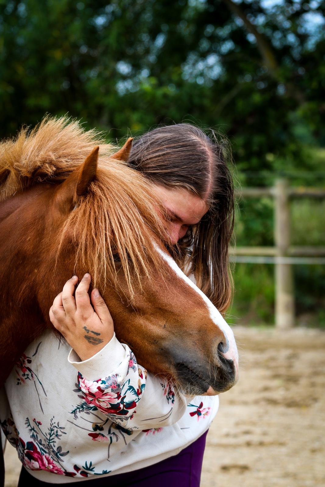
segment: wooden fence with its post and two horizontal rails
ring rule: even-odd
[[[236,196],[274,198],[273,247],[230,247],[230,260],[275,264],[275,325],[288,329],[294,326],[294,286],[292,264],[325,264],[325,247],[290,245],[291,198],[325,198],[325,190],[313,187],[289,187],[286,179],[278,179],[273,187],[245,187],[236,190]]]

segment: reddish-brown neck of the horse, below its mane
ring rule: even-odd
[[[46,187],[32,188],[0,206],[0,382],[26,346],[52,327],[49,309],[58,291],[51,291],[53,261],[45,248],[45,193]]]

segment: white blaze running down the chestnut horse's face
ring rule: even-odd
[[[162,255],[162,257],[165,259],[165,261],[170,265],[170,267],[176,272],[176,274],[183,279],[183,281],[187,282],[204,300],[204,302],[207,304],[207,307],[210,312],[210,318],[212,321],[220,328],[220,330],[223,332],[226,343],[223,344],[223,350],[224,352],[221,352],[222,356],[227,358],[228,360],[232,360],[235,366],[235,381],[238,379],[238,350],[237,350],[237,345],[235,342],[235,338],[233,336],[233,331],[231,330],[229,324],[226,322],[226,320],[221,316],[217,308],[211,303],[209,298],[199,289],[193,281],[191,281],[190,278],[188,278],[184,272],[178,267],[176,262],[168,255],[166,254],[163,250],[158,248],[159,253]]]

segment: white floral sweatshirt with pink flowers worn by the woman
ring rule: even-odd
[[[0,422],[31,474],[60,484],[175,455],[209,428],[218,405],[218,396],[184,396],[173,383],[147,374],[115,334],[80,361],[47,331],[6,380]]]

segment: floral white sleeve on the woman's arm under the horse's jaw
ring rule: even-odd
[[[114,336],[96,355],[80,361],[74,350],[69,362],[78,371],[79,395],[116,424],[130,430],[176,423],[194,396],[178,392],[172,382],[147,374],[128,345]]]

